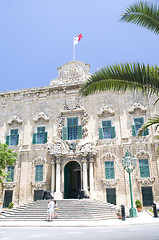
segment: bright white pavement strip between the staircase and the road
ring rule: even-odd
[[[47,221],[3,221],[0,220],[1,227],[113,227],[113,226],[127,226],[127,225],[146,225],[146,224],[159,224],[159,217],[154,218],[147,212],[137,214],[135,218],[126,218],[125,221],[121,219],[108,219],[98,221],[60,221],[54,220],[53,222]]]

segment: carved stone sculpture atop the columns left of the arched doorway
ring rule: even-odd
[[[48,151],[50,155],[65,154],[69,151],[69,146],[62,139],[54,137],[53,143],[48,143]]]

